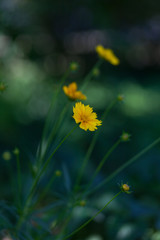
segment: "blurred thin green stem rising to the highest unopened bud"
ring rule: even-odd
[[[50,105],[50,107],[49,107],[49,111],[48,111],[48,114],[47,114],[47,117],[46,117],[46,121],[45,121],[45,124],[44,124],[44,129],[43,129],[43,133],[42,133],[42,138],[41,138],[41,142],[40,142],[40,146],[39,146],[39,150],[38,150],[38,159],[40,159],[40,157],[41,157],[42,143],[43,143],[43,140],[44,140],[44,138],[45,138],[45,136],[46,136],[46,133],[47,133],[47,131],[48,131],[49,120],[50,120],[50,116],[51,116],[51,113],[52,113],[52,109],[53,109],[53,107],[54,107],[54,105],[55,105],[56,99],[57,99],[58,94],[59,94],[59,92],[60,92],[60,90],[61,90],[61,88],[62,88],[62,85],[64,84],[64,82],[65,82],[66,78],[68,77],[69,73],[70,73],[70,69],[68,69],[68,70],[66,71],[66,73],[63,75],[63,77],[61,78],[60,84],[59,84],[59,86],[58,86],[58,88],[57,88],[57,91],[56,91],[56,93],[53,95],[53,98],[52,98],[52,101],[51,101],[51,105]]]

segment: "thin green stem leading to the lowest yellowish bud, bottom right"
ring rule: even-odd
[[[69,237],[72,237],[74,234],[76,234],[77,232],[79,232],[81,229],[83,229],[85,226],[87,226],[95,217],[97,217],[98,214],[100,214],[116,197],[118,197],[118,195],[120,195],[122,191],[120,191],[119,193],[117,193],[101,210],[99,210],[93,217],[91,217],[88,221],[86,221],[85,223],[83,223],[79,228],[77,228],[75,231],[73,231],[72,233],[68,234],[66,237],[64,237],[62,240],[65,240]]]

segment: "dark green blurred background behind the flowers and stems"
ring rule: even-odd
[[[20,148],[25,174],[28,153],[34,158],[60,77],[71,61],[77,61],[79,69],[68,77],[66,84],[76,81],[81,86],[98,60],[97,44],[113,49],[120,65],[103,63],[99,76],[84,90],[86,102],[101,119],[106,106],[117,94],[124,94],[125,101],[117,104],[103,123],[84,179],[90,178],[123,130],[131,134],[131,141],[121,144],[111,155],[97,177],[99,182],[160,135],[160,2],[0,1],[0,82],[7,86],[0,93],[2,199],[10,200],[4,151]],[[63,92],[61,95],[57,112],[67,101]],[[74,125],[71,117],[67,119],[62,135]],[[91,132],[77,129],[56,155],[60,164],[57,166],[60,169],[63,164],[67,166],[71,181],[92,136]],[[98,197],[93,196],[86,205],[86,217],[91,213],[89,206],[92,210],[100,208],[119,191],[121,181],[128,182],[133,192],[115,200],[105,214],[73,239],[159,240],[159,156],[160,145],[157,145],[101,188]],[[10,161],[14,167],[13,156]]]

